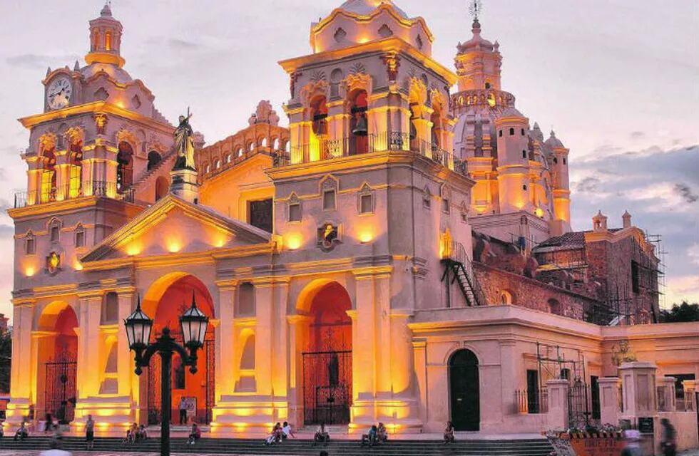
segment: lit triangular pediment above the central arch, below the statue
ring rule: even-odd
[[[168,195],[93,247],[81,262],[231,249],[267,244],[271,236],[210,207]]]

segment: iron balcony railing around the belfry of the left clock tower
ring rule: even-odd
[[[133,189],[128,188],[124,192],[118,192],[116,182],[94,180],[83,182],[82,185],[64,185],[60,187],[44,188],[31,192],[16,192],[14,194],[14,207],[34,206],[47,202],[63,201],[64,199],[76,199],[86,196],[113,197],[127,202],[134,202]]]

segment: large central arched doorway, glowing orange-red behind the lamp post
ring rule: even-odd
[[[213,300],[206,286],[195,276],[183,273],[168,274],[155,281],[143,299],[143,311],[153,318],[151,341],[159,337],[165,326],[172,331],[172,336],[182,344],[180,316],[192,303],[192,293],[198,309],[209,318],[214,317]],[[204,347],[198,351],[195,374],[183,366],[178,356],[173,356],[172,364],[172,402],[170,403],[173,423],[180,423],[180,400],[188,405],[187,422],[195,420],[205,424],[211,421],[214,405],[214,329],[207,328]],[[160,423],[163,405],[160,403],[160,357],[150,359],[148,371],[141,375],[141,401],[147,404],[148,424]]]

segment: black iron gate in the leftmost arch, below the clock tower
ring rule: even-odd
[[[77,368],[75,355],[67,352],[46,363],[46,412],[59,423],[70,423],[75,417]]]

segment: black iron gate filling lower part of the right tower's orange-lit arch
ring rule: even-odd
[[[302,356],[304,423],[350,423],[352,351],[318,351]]]

